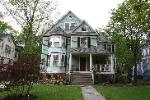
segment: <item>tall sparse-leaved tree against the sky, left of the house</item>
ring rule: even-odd
[[[4,12],[22,27],[25,45],[32,45],[32,35],[42,33],[52,23],[55,2],[44,0],[1,0]]]

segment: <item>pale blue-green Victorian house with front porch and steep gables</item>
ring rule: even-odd
[[[107,36],[69,11],[43,34],[42,71],[91,72],[95,65],[101,74],[114,74],[114,49]]]

